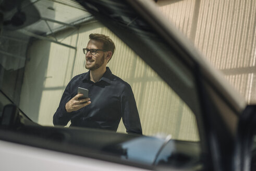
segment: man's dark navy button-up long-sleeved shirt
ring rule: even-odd
[[[66,103],[77,95],[78,87],[89,90],[91,104],[68,113]],[[90,71],[77,75],[68,83],[53,116],[54,125],[117,130],[121,117],[127,132],[142,133],[138,109],[130,85],[113,75],[107,67],[98,82],[90,80]]]

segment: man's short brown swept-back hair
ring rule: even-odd
[[[116,47],[115,47],[114,42],[109,38],[109,36],[104,35],[104,34],[92,33],[89,35],[89,38],[92,40],[97,40],[97,41],[103,42],[103,50],[111,51],[112,56],[113,56]],[[111,58],[112,58],[112,56],[111,56]]]

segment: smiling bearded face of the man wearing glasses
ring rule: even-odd
[[[90,40],[87,44],[89,50],[91,49],[100,49],[103,48],[103,43],[96,40]],[[101,67],[106,67],[105,64],[105,53],[104,51],[97,51],[95,55],[92,55],[90,52],[86,54],[86,69],[96,70]]]

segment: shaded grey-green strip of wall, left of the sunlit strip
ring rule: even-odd
[[[20,108],[32,120],[38,121],[42,91],[44,89],[50,43],[36,41],[28,50],[28,61],[20,95]]]

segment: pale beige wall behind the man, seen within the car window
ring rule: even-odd
[[[77,46],[77,51],[41,40],[31,45],[21,94],[21,109],[25,113],[42,125],[52,125],[67,83],[87,71],[82,48],[87,46],[90,33],[109,35],[115,42],[116,51],[108,66],[113,74],[131,85],[144,135],[163,133],[175,139],[199,139],[190,109],[124,42],[98,22],[56,35],[59,41]],[[125,132],[123,123],[118,132]]]

